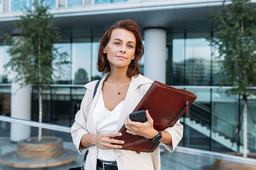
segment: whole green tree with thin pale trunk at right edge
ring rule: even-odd
[[[228,3],[228,4],[227,4]],[[221,84],[232,85],[228,94],[243,99],[243,156],[247,157],[247,99],[256,85],[256,10],[250,0],[223,1],[212,15],[216,37],[209,38],[223,59]]]

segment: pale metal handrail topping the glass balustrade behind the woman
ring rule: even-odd
[[[5,117],[5,116],[1,116],[1,115],[0,115],[0,121],[22,124],[22,125],[30,125],[33,127],[42,127],[42,128],[51,129],[54,131],[69,132],[69,133],[71,132],[70,127],[46,124],[46,123],[39,123],[39,122],[31,121],[31,120]],[[162,143],[161,143],[160,147],[164,148]],[[182,147],[182,146],[177,146],[177,148],[175,148],[175,152],[186,153],[186,154],[191,154],[191,155],[196,155],[196,156],[201,156],[201,157],[208,157],[208,158],[212,158],[212,159],[227,160],[230,162],[237,162],[237,163],[241,163],[241,164],[250,164],[250,165],[256,166],[256,159],[238,157],[238,156],[234,156],[234,155],[228,155],[225,153],[198,150],[198,149],[187,148],[187,147]]]

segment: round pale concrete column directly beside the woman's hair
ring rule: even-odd
[[[144,75],[166,83],[166,30],[145,29]]]

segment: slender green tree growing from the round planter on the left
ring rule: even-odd
[[[54,76],[54,65],[61,72],[67,53],[59,53],[54,47],[60,39],[58,28],[52,23],[49,6],[43,0],[35,1],[35,10],[27,10],[24,15],[14,21],[19,38],[12,38],[6,34],[5,44],[10,45],[8,53],[10,61],[4,67],[10,67],[17,73],[15,80],[20,81],[21,87],[35,84],[38,89],[38,122],[42,122],[42,90],[47,89]],[[38,129],[38,141],[42,138],[42,129]]]

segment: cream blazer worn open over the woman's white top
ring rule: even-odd
[[[97,146],[88,146],[84,148],[79,145],[80,145],[81,138],[84,134],[97,133],[95,124],[93,121],[92,113],[93,113],[93,108],[95,107],[95,104],[99,99],[99,95],[100,95],[99,89],[102,89],[103,82],[106,80],[107,77],[108,77],[108,74],[106,74],[100,81],[97,93],[95,94],[94,98],[93,98],[93,91],[97,83],[97,80],[84,85],[84,87],[87,90],[81,102],[81,108],[76,113],[75,122],[71,127],[72,139],[79,153],[82,154],[86,152],[86,150],[89,150],[86,158],[86,164],[85,164],[86,170],[96,170],[98,148]],[[116,132],[118,132],[119,129],[122,127],[122,125],[124,125],[125,118],[127,117],[127,115],[129,115],[129,113],[131,113],[134,110],[134,108],[140,102],[141,98],[147,92],[152,82],[153,82],[152,80],[146,78],[145,76],[142,76],[141,74],[131,78],[131,83],[127,90],[127,95],[125,97],[125,102],[120,113],[118,125],[116,127]],[[170,152],[173,152],[175,147],[178,145],[180,139],[182,138],[183,125],[180,124],[178,120],[173,127],[169,127],[164,131],[169,132],[172,136],[172,144],[164,145],[164,146],[167,150],[169,150]],[[141,170],[141,169],[160,170],[161,169],[159,146],[157,146],[156,150],[154,150],[154,152],[152,153],[145,153],[145,152],[136,153],[129,150],[119,150],[119,149],[114,149],[113,152],[116,158],[116,162],[118,164],[118,170],[131,170],[131,169],[132,170],[137,170],[137,169],[138,170]]]

